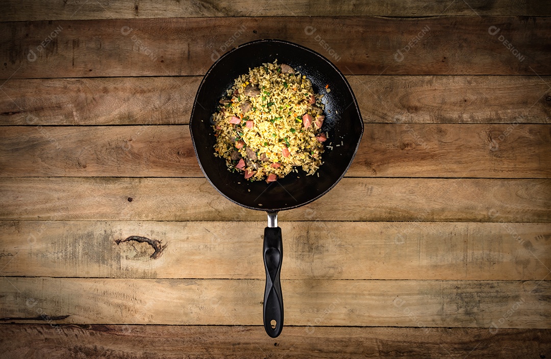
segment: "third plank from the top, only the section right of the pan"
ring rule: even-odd
[[[348,79],[366,123],[551,123],[549,77],[348,76]]]

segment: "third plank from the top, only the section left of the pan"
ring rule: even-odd
[[[0,121],[34,126],[188,124],[200,82],[201,77],[10,79],[0,93]]]

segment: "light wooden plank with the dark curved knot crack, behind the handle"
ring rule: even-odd
[[[0,221],[6,276],[262,279],[264,222]],[[281,222],[284,279],[539,280],[549,223]],[[158,259],[139,235],[166,246]],[[182,265],[185,263],[185,265]]]

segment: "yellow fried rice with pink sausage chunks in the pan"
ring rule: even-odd
[[[272,182],[322,164],[323,95],[288,65],[264,63],[242,74],[212,116],[214,154],[245,179]]]

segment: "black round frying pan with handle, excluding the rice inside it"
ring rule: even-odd
[[[276,182],[246,181],[242,174],[228,170],[225,160],[214,156],[212,114],[218,101],[234,85],[235,78],[263,63],[286,63],[312,82],[314,91],[324,94],[327,133],[323,164],[317,174],[291,173]],[[326,85],[330,92],[326,92]],[[199,85],[190,119],[193,148],[207,180],[228,200],[251,210],[268,213],[264,229],[264,329],[277,337],[283,328],[283,296],[279,281],[282,266],[282,232],[277,213],[304,206],[331,190],[350,167],[364,131],[358,103],[343,74],[331,61],[306,47],[282,40],[257,40],[226,52],[207,71]],[[329,147],[331,146],[331,147]]]

